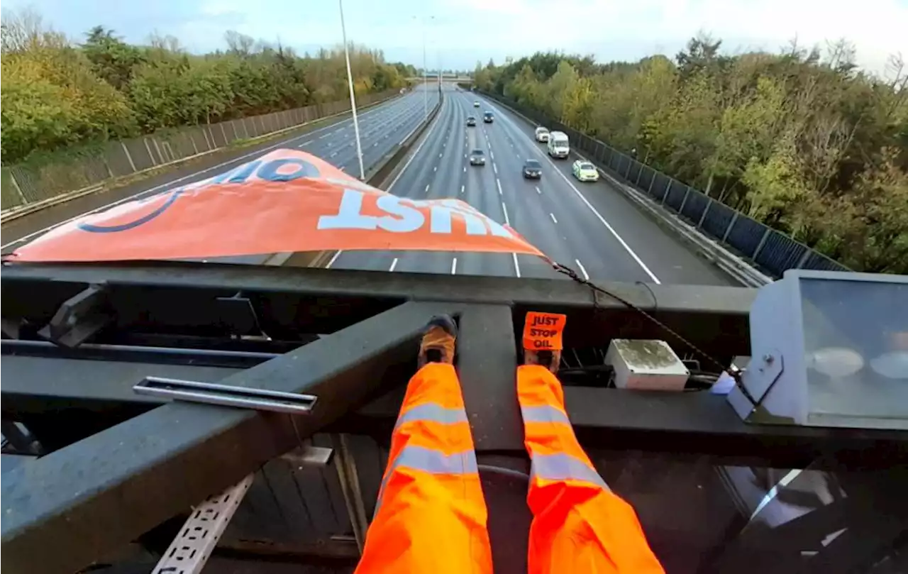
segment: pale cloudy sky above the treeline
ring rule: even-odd
[[[193,52],[223,47],[230,29],[301,51],[341,42],[334,0],[0,0],[0,6],[30,6],[74,38],[94,25],[130,42],[156,31],[177,36]],[[731,52],[776,51],[795,36],[803,45],[846,37],[858,63],[873,71],[883,72],[889,54],[908,59],[908,0],[344,0],[344,14],[350,41],[417,66],[425,18],[429,68],[440,60],[445,68],[472,69],[477,60],[500,63],[546,49],[600,61],[674,55],[701,30]]]

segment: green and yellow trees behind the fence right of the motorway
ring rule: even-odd
[[[596,64],[539,53],[477,63],[474,83],[598,137],[855,270],[908,273],[908,70],[887,80],[824,53]]]

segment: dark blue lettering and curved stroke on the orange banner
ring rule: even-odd
[[[281,168],[285,165],[293,165],[296,167],[296,169],[291,173],[278,173],[279,170],[281,170]],[[252,173],[255,173],[260,179],[263,179],[267,182],[290,182],[301,177],[319,177],[321,175],[319,168],[317,168],[312,163],[298,158],[281,158],[271,160],[270,162],[264,164],[262,164],[261,160],[243,163],[236,169],[215,175],[210,180],[210,183],[246,183],[246,181],[249,180],[249,178],[252,176]],[[173,203],[176,203],[176,200],[178,200],[182,195],[186,194],[189,191],[190,190],[187,190],[183,187],[173,190],[173,192],[170,192],[171,196],[168,197],[167,201],[165,201],[160,207],[155,209],[153,212],[145,213],[141,217],[138,217],[131,222],[118,223],[116,225],[78,223],[77,227],[80,230],[88,233],[117,233],[135,229],[140,225],[151,222],[154,219],[160,217],[163,213],[165,213],[173,206]],[[151,201],[163,195],[164,193],[156,193],[152,197],[140,200],[137,203],[145,203]]]

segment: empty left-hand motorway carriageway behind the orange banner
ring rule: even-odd
[[[426,98],[427,94],[423,94],[423,89],[427,90],[428,98]],[[371,165],[377,163],[394,146],[403,142],[419,126],[425,116],[424,102],[427,99],[428,110],[431,112],[439,100],[437,86],[428,88],[420,86],[410,94],[372,106],[358,114],[362,161],[367,173]],[[204,169],[199,169],[197,164],[183,166],[178,168],[175,173],[162,174],[106,193],[94,193],[72,202],[61,203],[25,215],[0,228],[0,252],[13,251],[21,242],[27,242],[37,237],[56,224],[106,209],[117,203],[142,199],[154,193],[169,191],[187,183],[227,172],[242,163],[252,161],[264,153],[279,148],[300,149],[321,157],[347,173],[356,176],[360,174],[360,164],[356,158],[356,140],[353,137],[353,121],[348,118],[279,142],[272,141],[254,145],[229,161]],[[262,260],[262,256],[220,259],[223,262],[252,263],[262,262]]]

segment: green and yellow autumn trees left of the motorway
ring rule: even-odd
[[[301,57],[232,31],[225,42],[189,54],[173,37],[129,45],[99,25],[73,45],[33,12],[0,12],[0,163],[350,97],[343,46]],[[400,88],[416,73],[380,51],[349,49],[357,94]]]

